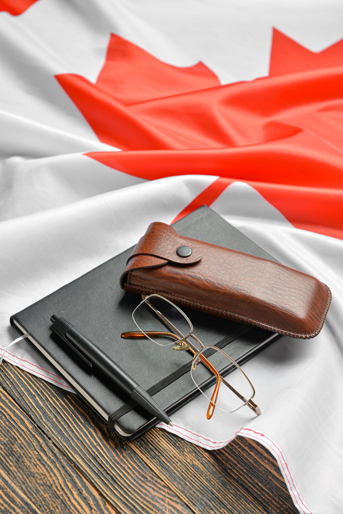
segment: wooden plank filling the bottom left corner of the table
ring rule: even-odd
[[[0,388],[0,511],[115,514]]]

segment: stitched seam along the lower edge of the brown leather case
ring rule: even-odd
[[[150,288],[150,287],[145,287],[145,290],[142,291],[141,288],[133,285],[131,280],[130,280],[130,283],[129,283],[129,279],[127,281],[127,285],[129,285],[132,289],[136,289],[139,292],[145,292],[145,290],[146,290],[146,293],[155,292],[155,293],[158,293],[158,294],[160,294],[162,296],[166,296],[170,300],[177,300],[177,301],[180,301],[181,303],[185,303],[185,304],[188,304],[188,305],[196,305],[198,307],[203,307],[204,309],[210,310],[210,311],[213,311],[213,312],[221,312],[221,313],[225,314],[226,316],[230,316],[231,318],[240,319],[241,321],[247,321],[248,323],[252,323],[252,324],[257,325],[257,326],[259,326],[261,328],[265,328],[265,329],[269,329],[269,330],[272,328],[274,331],[278,332],[279,334],[283,334],[285,336],[294,336],[294,337],[298,337],[298,338],[301,338],[301,339],[310,339],[311,337],[317,336],[319,334],[319,332],[321,331],[322,325],[323,325],[323,323],[325,321],[326,315],[328,313],[328,310],[329,310],[329,307],[330,307],[330,303],[331,303],[331,298],[332,298],[331,291],[330,291],[329,287],[326,284],[324,284],[325,287],[328,290],[328,301],[327,301],[326,307],[324,309],[323,315],[321,317],[320,323],[319,323],[318,327],[315,329],[315,331],[313,331],[313,332],[311,332],[309,334],[299,334],[298,332],[291,332],[291,331],[288,331],[288,330],[284,330],[283,328],[277,327],[275,325],[269,325],[267,323],[263,323],[262,321],[255,320],[254,318],[249,318],[247,316],[243,316],[242,314],[234,313],[233,311],[230,311],[230,310],[221,309],[220,307],[214,307],[213,305],[206,305],[206,304],[203,304],[203,303],[200,303],[200,302],[194,302],[192,300],[187,300],[186,298],[178,297],[176,295],[170,295],[169,293],[167,293],[165,291],[159,291],[158,289],[153,289],[153,288]]]

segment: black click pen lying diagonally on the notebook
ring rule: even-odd
[[[64,339],[89,366],[96,366],[116,386],[122,389],[131,400],[134,400],[150,414],[173,427],[172,421],[170,421],[170,418],[161,407],[157,405],[156,401],[122,370],[115,361],[110,359],[100,348],[81,334],[69,321],[59,318],[55,314],[51,316],[50,320],[53,323],[51,330]]]

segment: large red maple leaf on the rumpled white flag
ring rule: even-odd
[[[243,180],[295,226],[343,238],[342,44],[314,53],[274,30],[271,76],[222,86],[202,63],[171,66],[111,35],[95,84],[56,79],[99,139],[124,150],[89,157],[147,179],[222,177],[202,203]]]

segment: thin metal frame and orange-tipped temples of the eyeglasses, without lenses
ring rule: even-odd
[[[149,299],[152,298],[152,297],[157,297],[157,298],[160,298],[161,300],[164,300],[165,302],[168,302],[170,303],[173,307],[175,307],[179,312],[180,314],[187,320],[189,326],[190,326],[190,332],[187,336],[183,336],[179,331],[178,329],[173,325],[172,322],[170,322],[167,318],[165,318],[165,316],[163,316],[163,314],[160,313],[159,310],[157,310],[150,302],[149,302]],[[193,325],[192,323],[190,322],[190,320],[188,319],[188,317],[184,314],[184,312],[177,306],[175,305],[173,302],[171,302],[170,300],[168,300],[167,298],[164,298],[163,296],[161,295],[157,295],[157,294],[153,294],[153,295],[148,295],[148,296],[143,296],[142,295],[142,301],[139,303],[139,305],[135,308],[134,310],[134,313],[132,313],[132,319],[134,320],[135,324],[137,325],[136,321],[135,321],[135,318],[134,318],[134,314],[135,314],[135,311],[143,304],[145,303],[146,305],[148,305],[151,309],[154,310],[155,314],[157,314],[157,316],[170,328],[172,329],[174,332],[176,332],[176,334],[173,334],[172,332],[123,332],[121,334],[121,337],[122,338],[127,338],[127,339],[142,339],[142,338],[149,338],[150,339],[150,336],[168,336],[168,337],[173,337],[177,342],[176,342],[176,346],[173,346],[172,349],[173,350],[188,350],[190,351],[192,354],[193,354],[193,362],[192,362],[192,369],[195,370],[196,369],[196,366],[197,364],[201,361],[203,364],[205,364],[205,366],[216,376],[216,385],[214,387],[214,390],[213,390],[213,394],[212,394],[212,397],[211,397],[211,400],[209,402],[209,406],[208,406],[208,409],[207,409],[207,419],[211,419],[211,417],[213,416],[213,413],[214,413],[214,410],[215,410],[215,407],[216,407],[216,400],[217,400],[217,397],[218,397],[218,393],[219,393],[219,387],[220,387],[220,384],[221,382],[228,388],[230,389],[234,394],[236,394],[236,396],[238,396],[242,401],[244,401],[245,403],[243,403],[243,405],[241,407],[244,407],[245,405],[248,406],[250,409],[252,409],[255,414],[257,416],[259,416],[261,414],[261,411],[259,409],[259,407],[256,405],[256,403],[254,401],[252,401],[253,397],[255,396],[255,389],[254,389],[254,386],[253,384],[251,383],[251,381],[249,380],[249,378],[246,376],[246,374],[244,373],[244,371],[240,368],[240,366],[237,364],[237,362],[235,362],[229,355],[227,355],[225,352],[223,352],[223,350],[221,350],[220,348],[218,348],[217,346],[210,346],[210,345],[206,345],[204,346],[202,344],[201,341],[199,341],[199,339],[193,334]],[[138,328],[140,328],[138,325],[137,325]],[[201,347],[201,350],[197,350],[197,348],[190,342],[188,341],[188,337],[191,337],[193,338],[198,344],[199,346]],[[247,400],[246,398],[244,398],[244,396],[242,396],[238,391],[236,391],[230,383],[228,383],[221,375],[220,373],[218,372],[218,370],[215,368],[215,366],[213,366],[213,364],[211,362],[209,362],[206,357],[203,355],[203,354],[200,354],[200,352],[202,352],[202,350],[206,349],[206,348],[213,348],[214,350],[217,350],[219,352],[222,352],[228,359],[230,359],[236,366],[237,368],[243,373],[243,375],[245,376],[245,378],[247,379],[247,381],[250,383],[250,386],[253,390],[253,394],[252,396],[249,398],[249,400]],[[197,386],[198,387],[198,386]],[[198,389],[200,389],[198,387]],[[201,391],[201,390],[200,390]],[[201,391],[202,392],[202,391]],[[239,407],[239,409],[241,408]],[[238,410],[238,409],[236,409]]]

